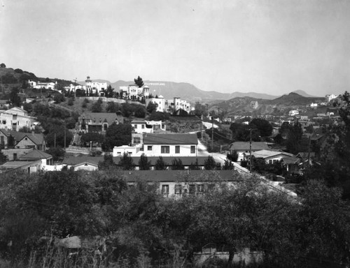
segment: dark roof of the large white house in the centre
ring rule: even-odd
[[[144,144],[198,144],[197,134],[144,134]]]

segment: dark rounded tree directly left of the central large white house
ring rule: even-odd
[[[102,149],[109,151],[115,146],[130,144],[132,140],[132,126],[130,124],[116,124],[109,126],[106,131]]]

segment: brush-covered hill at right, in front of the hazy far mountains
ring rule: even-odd
[[[211,105],[209,110],[220,109],[225,111],[228,116],[248,114],[252,116],[260,114],[282,115],[289,110],[304,109],[310,103],[317,101],[324,101],[324,98],[304,97],[291,92],[273,100],[251,97],[232,98],[228,101]]]

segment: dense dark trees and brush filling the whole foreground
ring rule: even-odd
[[[263,261],[255,267],[349,265],[349,211],[338,188],[308,181],[295,199],[255,177],[235,174],[230,186],[212,172],[204,184],[215,180],[216,188],[180,199],[164,198],[158,184],[137,178],[129,186],[114,169],[2,174],[2,260],[57,267],[58,251],[48,262],[42,237],[99,235],[113,248],[99,267],[194,267],[193,253],[207,244],[230,258],[244,248],[259,251]],[[199,179],[186,176],[189,183]]]

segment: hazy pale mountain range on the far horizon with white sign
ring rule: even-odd
[[[134,84],[134,81],[123,81],[118,80],[117,82],[109,82],[108,80],[93,80],[94,82],[106,82],[107,84],[111,84],[111,87],[118,90],[119,87],[125,87],[130,84]],[[144,83],[150,87],[150,93],[154,96],[162,95],[164,98],[174,98],[180,97],[190,102],[200,101],[206,103],[217,103],[221,100],[230,100],[232,98],[241,98],[241,97],[249,97],[249,98],[257,98],[264,100],[274,100],[279,98],[279,96],[273,96],[269,94],[260,94],[255,92],[238,92],[235,91],[233,93],[221,93],[218,91],[203,91],[198,89],[193,84],[189,84],[186,82],[168,82],[168,81],[149,81],[145,80]],[[85,84],[85,82],[79,82],[79,84]],[[315,96],[311,96],[302,90],[293,91],[300,96],[314,98]]]

